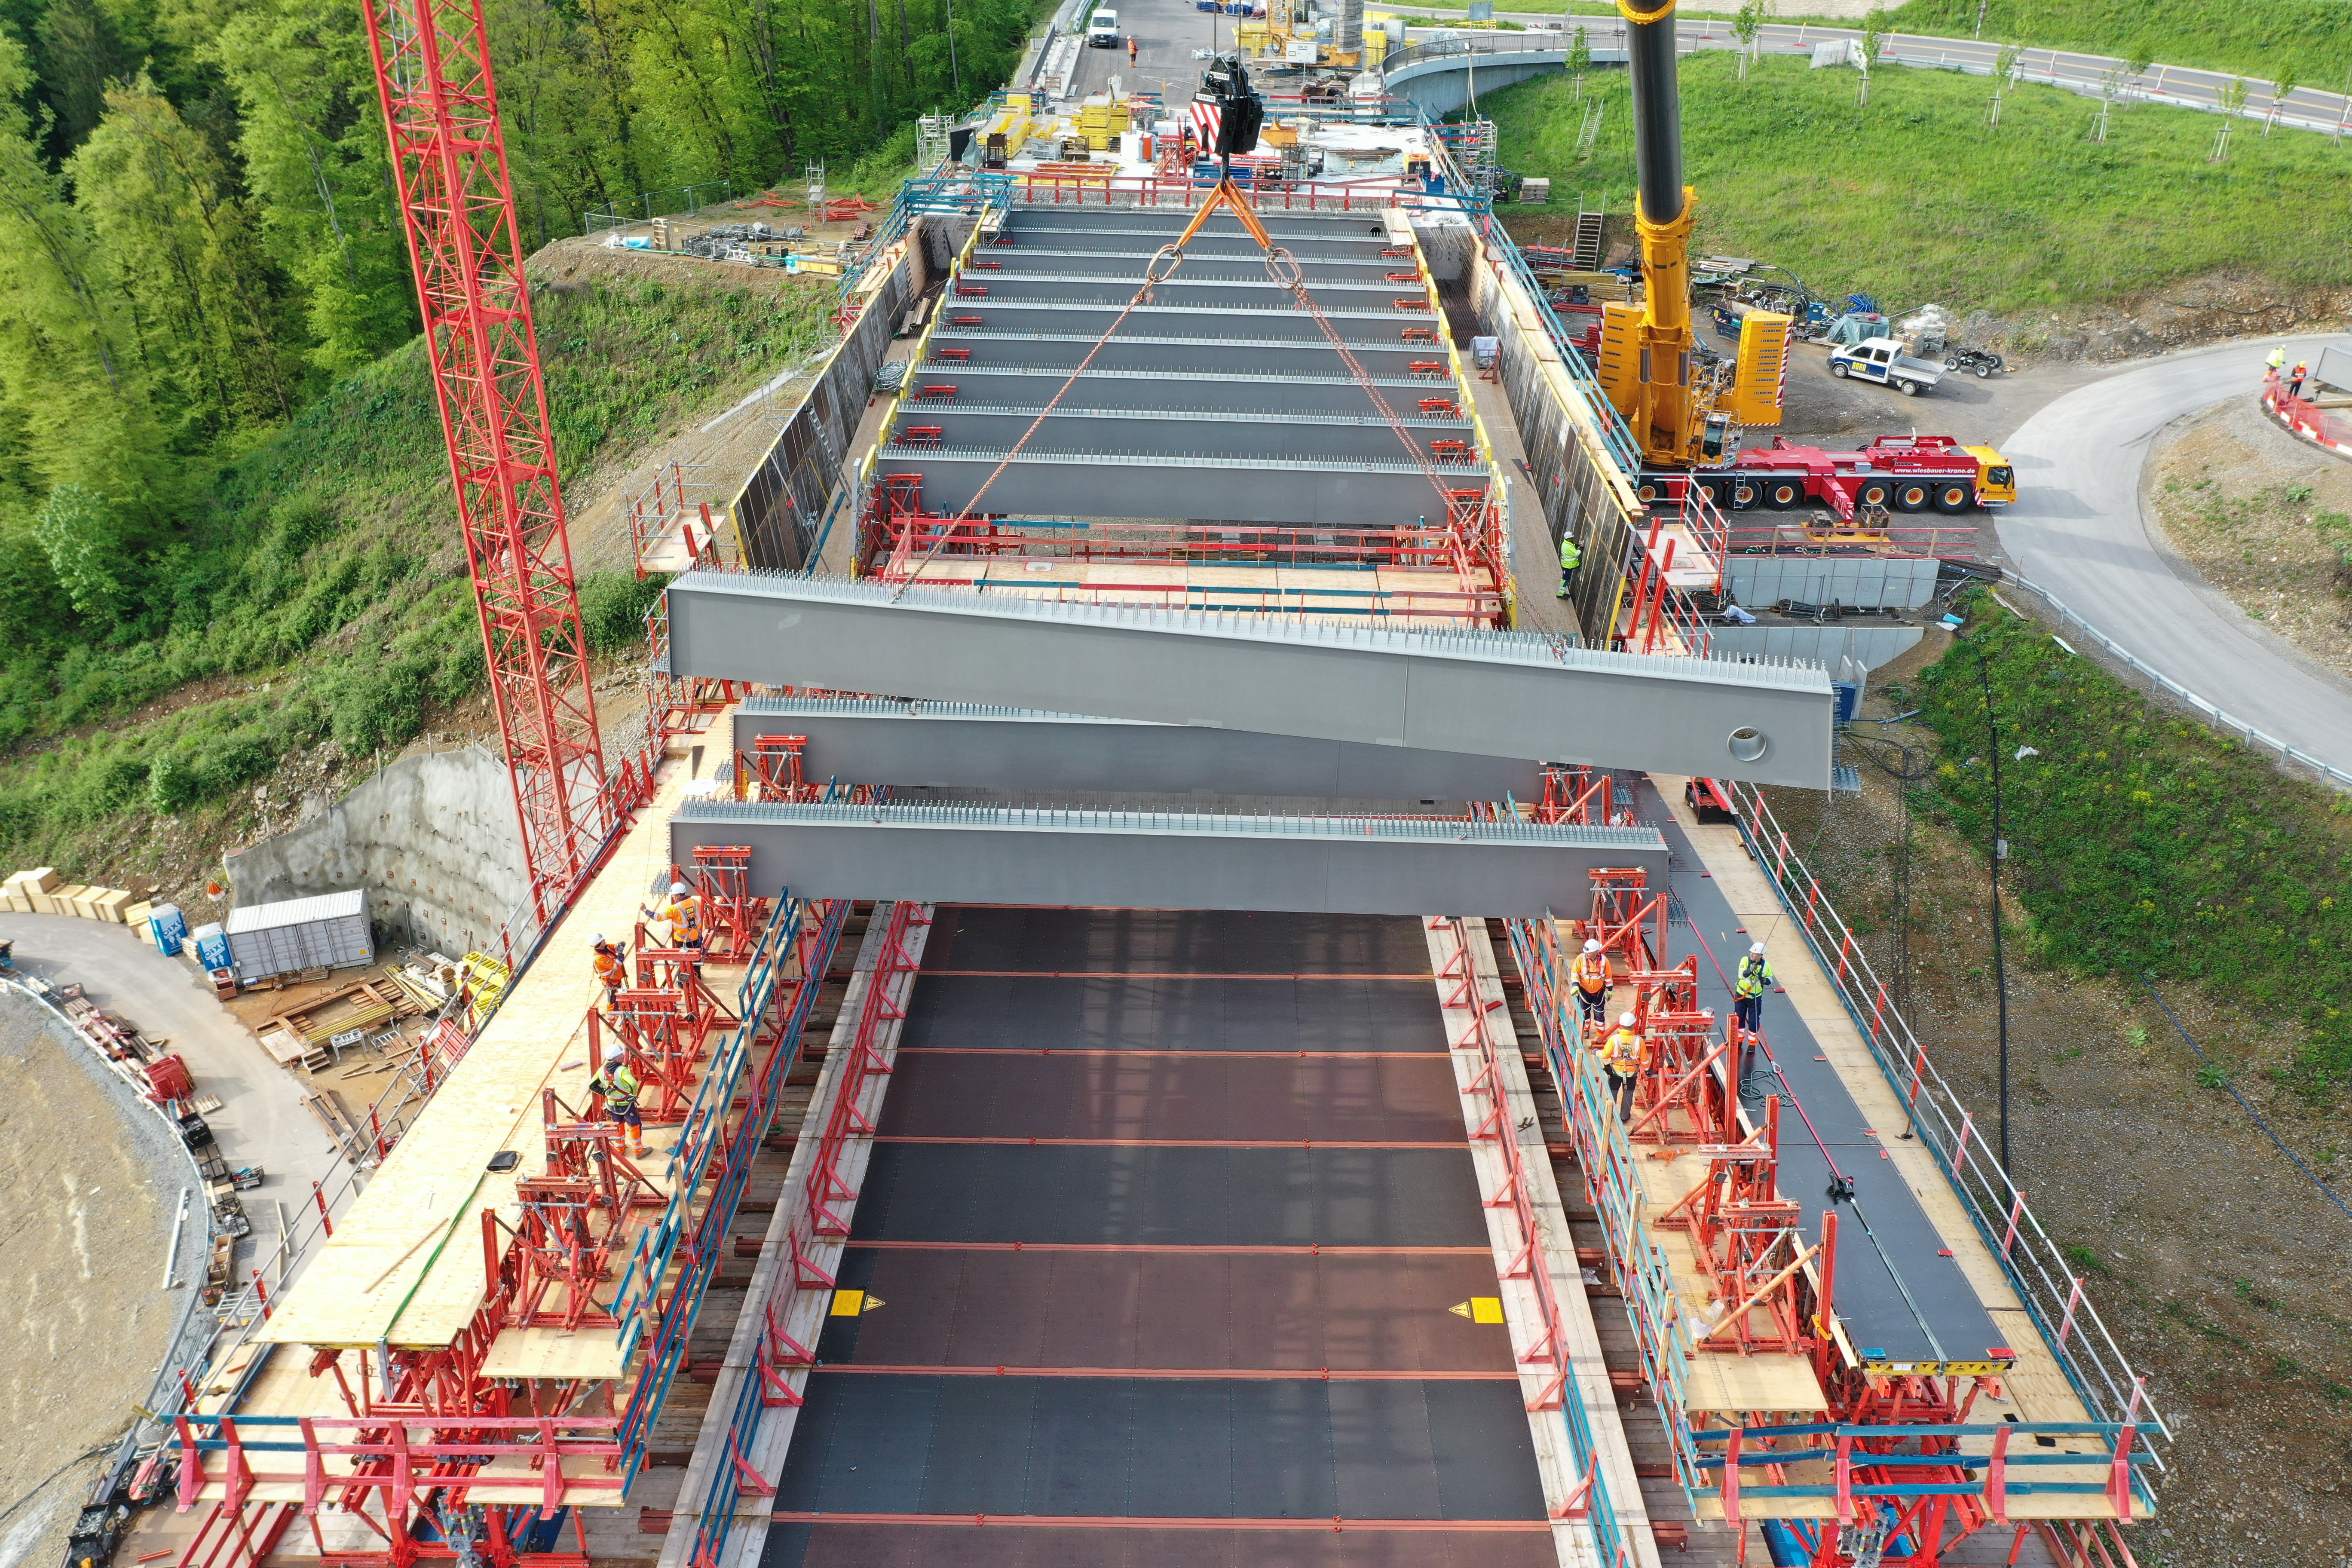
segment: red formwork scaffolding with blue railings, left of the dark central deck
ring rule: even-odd
[[[847,917],[842,900],[779,898],[734,1006],[694,973],[701,954],[640,952],[656,983],[621,997],[663,1023],[590,1030],[623,1041],[647,1121],[675,1143],[640,1166],[595,1098],[546,1091],[543,1168],[515,1213],[480,1213],[487,1291],[449,1345],[310,1352],[341,1415],[176,1420],[179,1509],[209,1505],[176,1568],[256,1568],[296,1519],[322,1568],[588,1568],[579,1509],[616,1505],[644,1462]],[[677,1063],[699,1063],[691,1081]],[[607,1335],[619,1375],[485,1371],[501,1335],[546,1331]],[[320,1505],[374,1540],[329,1544]]]

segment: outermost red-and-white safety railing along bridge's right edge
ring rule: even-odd
[[[1910,1112],[1912,1131],[1964,1199],[1969,1220],[1999,1258],[2002,1272],[2042,1328],[2067,1382],[2074,1385],[2096,1420],[2136,1427],[2154,1455],[2150,1429],[2154,1436],[2171,1439],[2171,1427],[2147,1394],[2147,1378],[2131,1368],[2107,1321],[2084,1291],[2086,1276],[2074,1272],[2065,1251],[2025,1206],[2025,1192],[2009,1180],[2009,1171],[2002,1168],[1999,1154],[1978,1128],[1976,1114],[1962,1105],[1943,1072],[1929,1060],[1926,1046],[1896,1011],[1886,983],[1879,980],[1853,929],[1820,891],[1820,879],[1804,865],[1804,856],[1773,818],[1771,804],[1755,785],[1726,783],[1724,788],[1738,809],[1748,851],[1771,877],[1780,905],[1804,933],[1820,971],[1837,987],[1846,1016]],[[2154,1455],[2154,1462],[2161,1467],[2161,1455]]]

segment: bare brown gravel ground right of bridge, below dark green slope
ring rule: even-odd
[[[1929,637],[1879,679],[1943,651]],[[1872,701],[1872,712],[1891,708]],[[1926,731],[1891,731],[1924,764]],[[1896,762],[1891,750],[1889,762]],[[1915,764],[1917,766],[1917,764]],[[1860,799],[1776,790],[1790,839],[1896,976],[1893,867],[1903,806],[1865,762]],[[2011,1164],[2042,1225],[2070,1248],[2126,1359],[2173,1422],[2161,1519],[2133,1530],[2145,1568],[2352,1563],[2352,1307],[2331,1206],[2220,1088],[2129,980],[2086,980],[2020,957],[2011,917]],[[1997,1140],[1997,999],[1983,858],[1912,823],[1910,1013],[1929,1056]],[[2263,1077],[2293,1056],[2277,1025],[2197,990],[2166,994],[2279,1135],[2352,1201],[2352,1107],[2307,1105]]]

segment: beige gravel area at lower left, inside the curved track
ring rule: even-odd
[[[66,1535],[129,1406],[155,1382],[186,1305],[162,1291],[179,1192],[195,1182],[179,1140],[87,1046],[24,997],[0,997],[0,1568],[61,1561]],[[191,1199],[181,1281],[205,1267],[202,1194]],[[68,1465],[66,1474],[52,1472]]]

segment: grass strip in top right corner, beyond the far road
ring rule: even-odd
[[[1978,5],[1910,0],[1889,21],[1898,33],[1971,38]],[[1990,0],[1983,35],[2265,82],[2284,71],[2331,92],[2343,92],[2352,71],[2352,7],[2343,0]]]

